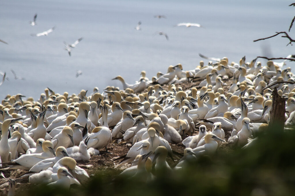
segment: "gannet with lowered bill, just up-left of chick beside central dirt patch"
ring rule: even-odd
[[[54,150],[56,150],[60,146],[67,148],[70,142],[72,142],[73,145],[75,145],[73,140],[73,129],[68,126],[65,126],[59,134],[55,135],[52,138]]]

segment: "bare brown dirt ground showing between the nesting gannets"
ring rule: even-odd
[[[232,84],[231,80],[223,81],[227,85],[224,86],[224,94],[227,93],[230,85]],[[183,84],[176,84],[176,87],[181,86],[183,90],[190,89],[191,87],[197,87],[200,82],[192,82],[192,83],[183,83]],[[167,89],[168,85],[163,85],[163,89]],[[199,90],[199,88],[198,88]],[[207,130],[210,131],[211,127],[207,127]],[[197,135],[199,132],[196,131],[194,135]],[[225,131],[225,140],[230,137],[231,132],[230,131]],[[187,137],[187,136],[186,136]],[[185,137],[183,137],[185,139]],[[183,154],[183,150],[185,149],[185,146],[182,143],[178,144],[171,144],[170,146],[172,150]],[[99,173],[103,173],[106,171],[113,171],[114,173],[120,173],[127,167],[130,167],[130,165],[122,165],[117,168],[114,168],[114,163],[118,163],[118,161],[113,161],[114,157],[120,157],[122,155],[127,154],[129,149],[131,148],[130,143],[121,143],[118,144],[117,141],[112,142],[108,146],[108,151],[111,152],[105,153],[104,150],[100,151],[100,155],[92,156],[90,161],[77,161],[77,165],[87,171],[90,177],[94,176],[94,174],[99,175]],[[223,143],[220,146],[220,150],[224,151],[230,151],[231,147],[230,145],[226,142]],[[174,166],[175,163],[171,159],[167,159],[168,164],[171,166]],[[0,167],[0,169],[3,169],[3,167]],[[21,177],[22,175],[26,174],[27,171],[24,170],[2,170],[5,178],[0,177],[0,195],[7,195],[8,192],[8,179],[12,178],[17,182],[16,185],[16,195],[23,195],[24,190],[28,189],[30,187],[29,183],[29,177]]]

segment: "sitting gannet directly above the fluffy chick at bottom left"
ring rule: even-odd
[[[41,172],[42,170],[47,170],[49,167],[53,167],[56,162],[58,162],[63,157],[69,157],[65,147],[60,146],[55,150],[55,157],[47,158],[37,162],[33,167],[31,167],[30,172]]]

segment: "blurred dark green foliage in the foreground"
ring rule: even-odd
[[[30,195],[295,195],[295,131],[276,127],[258,134],[244,150],[227,144],[181,171],[162,170],[155,180],[127,179],[116,170],[99,172],[69,191],[42,186]],[[230,151],[230,152],[229,152]]]

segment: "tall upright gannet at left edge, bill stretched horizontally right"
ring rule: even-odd
[[[12,119],[6,119],[2,123],[2,135],[0,140],[0,159],[2,162],[9,162],[12,158],[12,154],[10,152],[10,147],[8,144],[8,128],[11,124],[14,122],[17,122],[22,118],[12,118]]]

